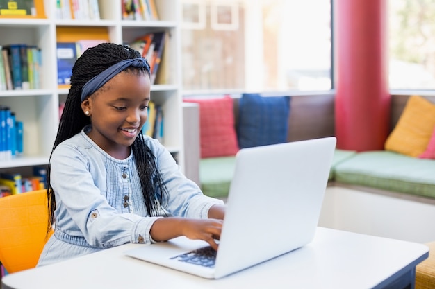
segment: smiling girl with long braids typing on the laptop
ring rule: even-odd
[[[38,265],[124,243],[177,236],[217,249],[224,205],[203,195],[158,141],[144,136],[151,83],[140,53],[118,44],[86,50],[49,160],[49,238]]]

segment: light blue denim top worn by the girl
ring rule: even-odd
[[[124,243],[153,243],[149,231],[161,217],[147,216],[133,152],[115,159],[85,131],[60,143],[51,156],[51,186],[56,198],[54,235],[38,265],[47,265]],[[180,171],[174,158],[156,139],[145,136],[167,187],[164,213],[208,218],[221,200],[202,194]]]

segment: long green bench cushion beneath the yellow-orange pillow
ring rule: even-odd
[[[435,161],[386,150],[359,152],[337,164],[337,182],[435,198]]]

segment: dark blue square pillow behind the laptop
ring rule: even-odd
[[[238,107],[240,148],[285,143],[290,115],[290,96],[243,94]]]

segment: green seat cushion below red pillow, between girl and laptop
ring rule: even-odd
[[[199,162],[199,182],[204,195],[225,198],[234,175],[236,157],[208,157]]]

